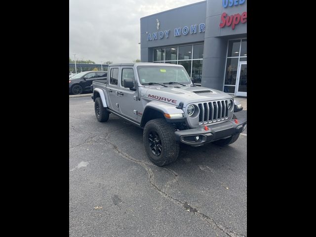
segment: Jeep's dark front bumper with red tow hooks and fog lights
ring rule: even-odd
[[[204,125],[187,130],[179,130],[175,132],[175,137],[177,142],[189,145],[202,145],[241,133],[246,128],[246,125],[246,118],[237,118],[237,123],[235,119],[232,119],[222,123],[207,125],[208,130],[204,129]]]

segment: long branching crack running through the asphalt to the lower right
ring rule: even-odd
[[[132,125],[132,126],[133,126],[133,125]],[[125,128],[125,127],[124,127],[124,128]],[[123,129],[123,128],[120,128],[120,129]],[[194,208],[194,207],[192,207],[191,205],[189,205],[187,201],[184,202],[184,201],[178,200],[177,198],[172,197],[171,195],[167,194],[165,191],[161,190],[161,189],[158,187],[158,185],[154,182],[154,173],[153,173],[152,169],[147,166],[147,165],[154,165],[153,163],[149,163],[149,162],[147,162],[147,161],[137,160],[137,159],[135,159],[135,158],[132,158],[132,157],[129,156],[128,154],[124,153],[123,151],[120,151],[120,150],[118,149],[118,146],[115,145],[112,141],[108,140],[108,137],[109,137],[112,133],[117,132],[117,131],[119,131],[120,129],[115,130],[115,131],[112,131],[112,132],[108,133],[108,135],[107,135],[104,139],[103,139],[103,138],[100,138],[100,139],[98,139],[98,140],[104,140],[104,141],[106,142],[106,145],[112,146],[112,147],[114,148],[114,151],[115,151],[118,155],[120,155],[121,157],[127,158],[127,159],[129,159],[129,160],[131,160],[131,161],[133,161],[133,162],[136,162],[136,163],[140,164],[140,165],[147,171],[147,173],[148,173],[148,176],[149,176],[149,183],[150,183],[155,189],[157,189],[158,192],[159,192],[159,194],[162,195],[163,197],[168,198],[169,200],[171,200],[171,201],[173,201],[174,203],[176,203],[176,204],[178,204],[178,205],[184,207],[186,210],[189,210],[189,211],[193,212],[194,214],[197,213],[197,215],[198,215],[200,218],[202,218],[204,221],[206,221],[206,222],[207,222],[208,224],[210,224],[210,225],[215,225],[220,231],[224,232],[224,233],[225,233],[227,236],[229,236],[229,237],[237,237],[237,236],[247,237],[247,236],[245,236],[245,235],[237,234],[237,233],[235,233],[235,232],[233,232],[233,231],[228,230],[227,228],[223,227],[222,225],[216,223],[214,219],[210,218],[209,216],[207,216],[207,215],[204,214],[204,213],[201,213],[201,212],[198,211],[196,208]],[[178,174],[177,174],[175,171],[173,171],[173,170],[171,170],[171,169],[169,169],[169,168],[167,168],[167,167],[162,167],[162,168],[168,170],[170,173],[172,173],[172,174],[175,176],[175,178],[174,178],[172,181],[169,181],[167,184],[171,184],[171,183],[174,183],[174,182],[178,182]]]

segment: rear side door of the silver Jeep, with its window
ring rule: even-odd
[[[119,111],[118,108],[118,75],[119,67],[111,67],[109,73],[109,79],[107,80],[107,95],[111,104],[111,109]]]

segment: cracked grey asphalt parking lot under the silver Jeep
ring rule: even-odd
[[[100,123],[91,97],[69,98],[69,236],[247,236],[246,133],[225,148],[182,145],[158,167],[142,129]]]

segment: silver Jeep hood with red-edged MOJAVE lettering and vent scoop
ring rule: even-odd
[[[180,88],[179,88],[180,87]],[[233,99],[233,97],[223,91],[202,87],[202,86],[153,86],[143,87],[147,90],[142,90],[141,96],[147,97],[148,99],[158,100],[173,105],[179,105],[183,102],[184,107],[190,103],[211,101],[211,100],[222,100],[222,99]]]

